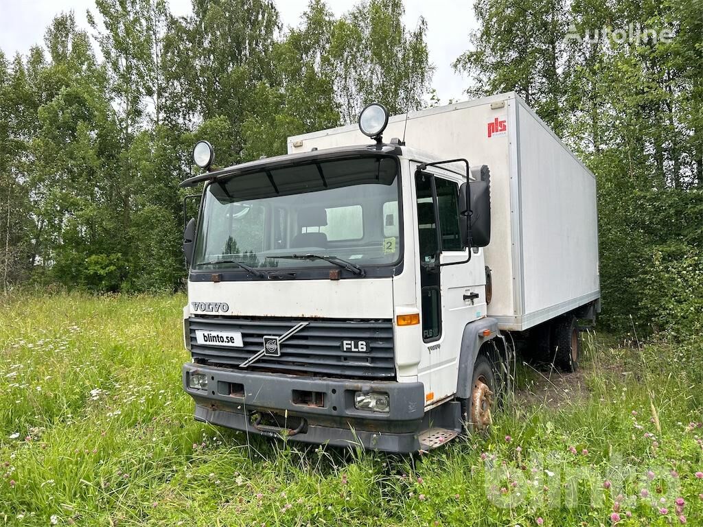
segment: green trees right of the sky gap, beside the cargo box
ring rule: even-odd
[[[664,275],[697,257],[680,245],[703,241],[699,2],[477,0],[475,9],[472,47],[455,63],[475,80],[469,93],[517,91],[598,176],[602,321],[695,330],[683,308],[662,304],[681,301]],[[673,39],[607,34],[630,28]],[[684,283],[699,290],[699,278]],[[657,280],[666,289],[655,293]]]

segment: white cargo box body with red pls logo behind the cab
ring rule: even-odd
[[[489,316],[527,330],[600,297],[595,176],[515,93],[389,119],[383,136],[491,169]],[[288,139],[288,152],[370,143],[356,124]]]

